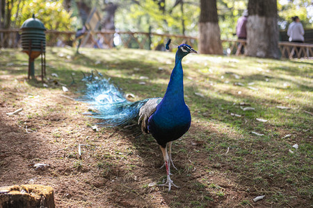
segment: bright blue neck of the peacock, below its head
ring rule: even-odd
[[[175,67],[170,75],[168,89],[163,97],[164,101],[175,101],[175,103],[184,103],[184,81],[182,69],[182,56],[176,53]]]

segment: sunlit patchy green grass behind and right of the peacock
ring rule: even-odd
[[[67,85],[71,92],[79,92],[83,89],[83,83],[79,81],[81,71],[86,73],[97,69],[110,77],[125,94],[134,94],[133,101],[163,96],[175,58],[174,53],[131,49],[81,49],[83,53],[79,55],[75,55],[74,51],[70,48],[48,48],[47,77]],[[60,84],[49,83],[49,88],[45,88],[35,80],[24,81],[27,57],[23,53],[13,49],[1,49],[0,52],[0,64],[4,66],[0,71],[2,103],[8,103],[14,109],[23,106],[14,100],[16,90],[21,87],[26,94],[22,102],[26,102],[27,96],[45,96],[48,91],[52,94],[63,93]],[[40,69],[38,63],[39,60],[36,60],[36,74]],[[166,205],[218,207],[223,203],[230,207],[252,207],[257,204],[273,207],[312,206],[313,116],[307,112],[313,112],[313,61],[188,55],[183,60],[183,68],[185,101],[191,108],[193,121],[189,132],[175,141],[173,146],[179,171],[174,172],[172,179],[175,181],[175,175],[179,175],[179,182],[182,184],[184,181],[182,192],[191,195],[180,196],[180,192],[176,192],[176,198],[175,194],[163,196],[164,200],[170,200]],[[58,78],[52,77],[51,73],[57,73]],[[74,85],[70,85],[71,76],[75,80]],[[141,76],[149,79],[142,80]],[[141,81],[146,84],[139,85]],[[35,107],[38,103],[28,102],[27,105]],[[243,111],[243,107],[253,107],[255,110]],[[57,112],[64,112],[64,117],[72,116],[80,114],[81,108],[64,106],[62,103],[43,105],[42,110],[29,114],[28,119]],[[93,125],[93,120],[86,120],[86,128]],[[18,122],[24,125],[22,121]],[[49,122],[54,125],[53,119]],[[54,140],[58,142],[65,142],[61,140],[65,135],[78,133],[74,130],[65,132],[62,128],[51,130]],[[291,137],[284,138],[285,135]],[[111,142],[120,142],[120,139],[127,138],[127,134],[119,135],[109,129],[94,132],[93,137],[97,137],[95,143],[103,141],[104,137],[110,138]],[[124,170],[125,181],[128,182],[135,177],[134,171],[141,168],[140,164],[145,159],[155,160],[153,153],[159,152],[155,145],[150,145],[154,140],[145,135],[139,135],[136,139],[139,144],[129,144],[123,140],[127,143],[125,148],[90,155],[97,161],[93,167],[99,169],[98,175],[112,180]],[[146,145],[141,146],[140,142]],[[191,145],[192,142],[199,145]],[[90,144],[93,145],[93,141]],[[293,148],[294,144],[298,144],[299,148]],[[293,153],[289,153],[289,150]],[[72,159],[77,157],[72,150],[69,155]],[[141,155],[141,158],[135,155]],[[85,164],[73,160],[72,166],[79,171]],[[123,169],[123,166],[126,168]],[[154,177],[154,180],[159,178],[163,178],[163,175]],[[187,181],[182,178],[187,178]],[[142,184],[141,188],[123,186],[120,187],[121,192],[130,191],[136,197],[140,193],[141,198],[151,202],[152,207],[159,206],[151,193],[145,192],[150,189],[147,183]],[[266,195],[266,198],[253,202],[252,198],[259,195]],[[230,200],[232,197],[235,200]],[[124,204],[121,202],[118,205]]]

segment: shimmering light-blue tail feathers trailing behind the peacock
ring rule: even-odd
[[[127,101],[120,88],[97,71],[92,71],[88,76],[84,75],[82,80],[86,83],[86,89],[78,100],[90,104],[95,109],[91,117],[102,120],[98,125],[117,126],[132,123],[138,119],[141,107],[150,100],[147,98],[143,101]]]

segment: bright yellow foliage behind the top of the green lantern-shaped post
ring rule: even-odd
[[[11,16],[11,20],[19,28],[26,19],[35,14],[35,17],[40,19],[48,30],[69,31],[72,29],[72,18],[70,12],[63,8],[62,3],[63,0],[15,1],[12,10],[14,15]]]

